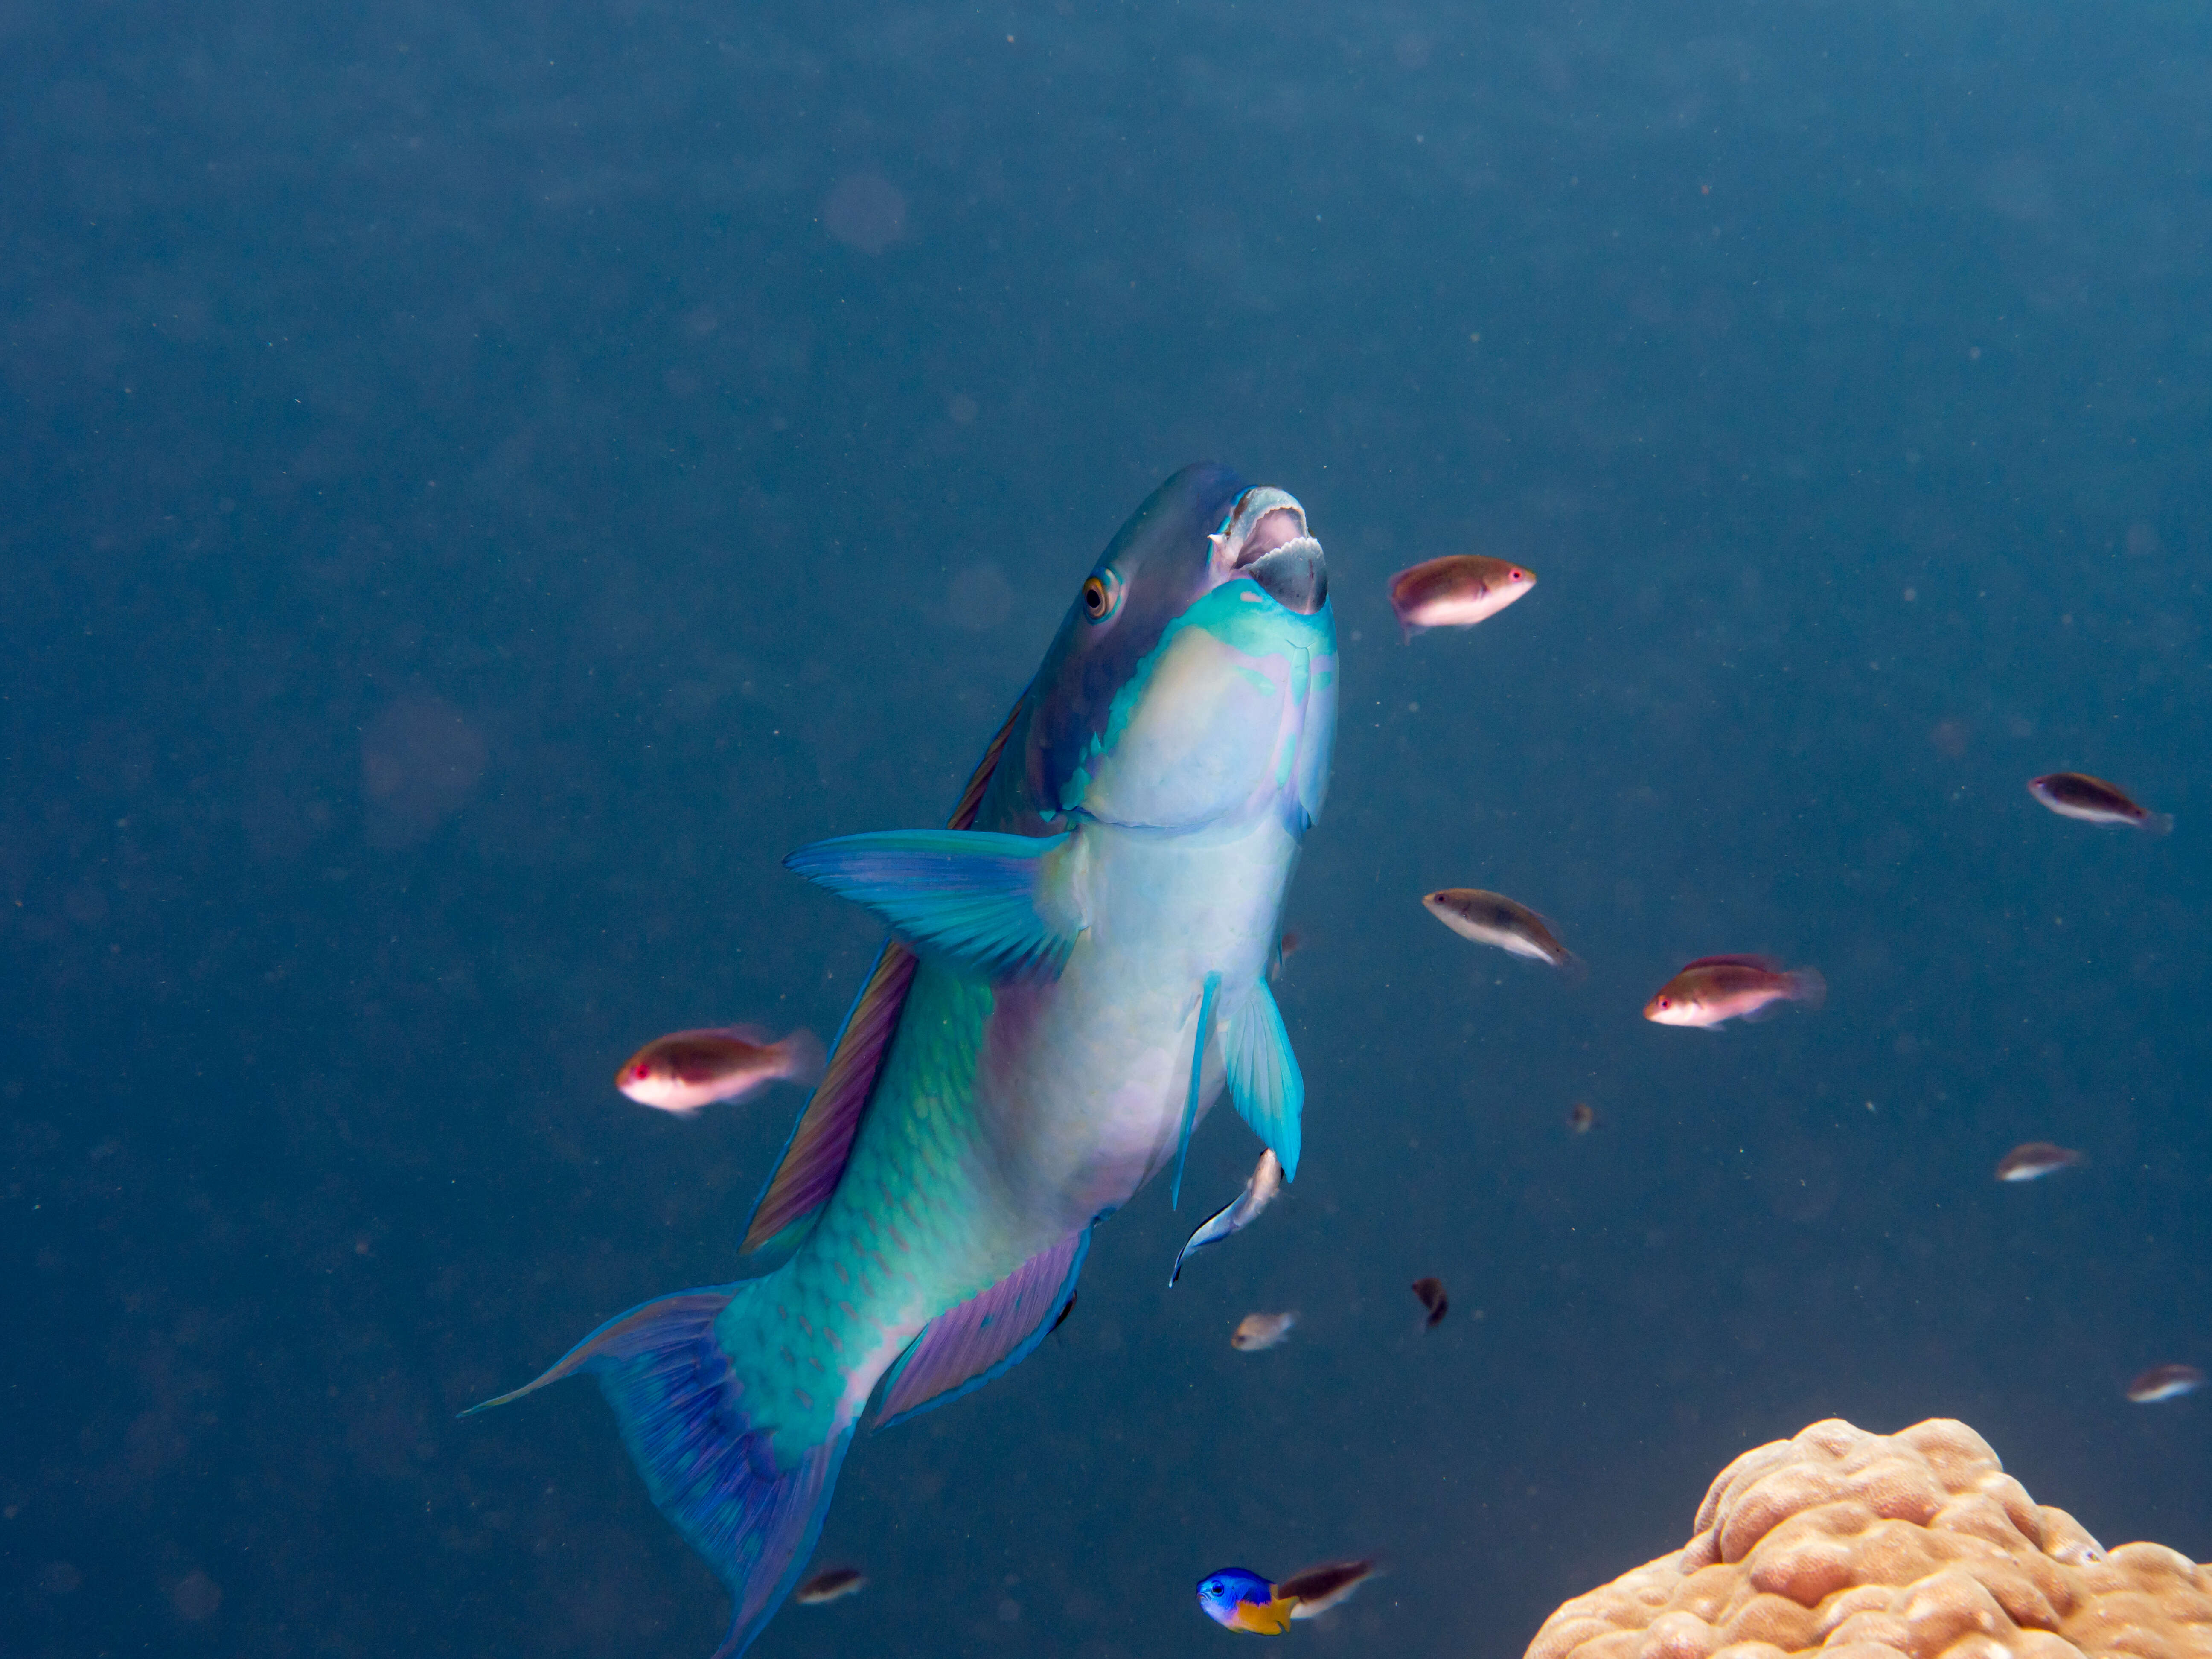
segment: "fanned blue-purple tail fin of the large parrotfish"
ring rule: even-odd
[[[774,1425],[745,1409],[745,1380],[717,1321],[759,1283],[686,1290],[633,1307],[535,1383],[469,1409],[507,1405],[575,1371],[599,1378],[653,1502],[730,1586],[737,1606],[714,1659],[741,1655],[799,1582],[852,1442],[847,1427],[779,1455]],[[737,1314],[745,1312],[739,1305]]]

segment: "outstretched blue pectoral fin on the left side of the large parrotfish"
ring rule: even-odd
[[[1057,978],[1088,925],[1075,834],[883,830],[816,841],[783,865],[987,980]]]

